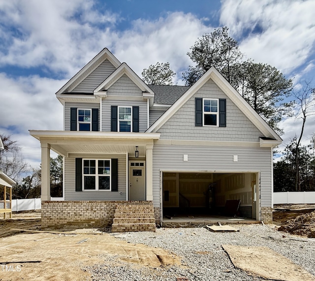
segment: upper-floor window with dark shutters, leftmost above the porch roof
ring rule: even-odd
[[[98,131],[98,108],[70,108],[71,131]]]

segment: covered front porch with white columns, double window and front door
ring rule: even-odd
[[[63,198],[59,200],[153,201],[153,146],[159,133],[42,130],[30,133],[41,144],[42,201],[52,200],[50,150],[63,156],[64,160]],[[78,166],[80,161],[81,166]],[[80,181],[81,190],[77,187]]]

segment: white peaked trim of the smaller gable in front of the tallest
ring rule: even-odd
[[[126,64],[123,62],[111,75],[109,75],[103,83],[101,83],[95,90],[94,94],[102,94],[107,91],[119,78],[124,74],[135,84],[143,93],[147,93],[154,97],[154,92],[148,87],[146,83]]]

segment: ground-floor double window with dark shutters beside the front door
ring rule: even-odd
[[[118,159],[75,159],[75,191],[118,191]]]

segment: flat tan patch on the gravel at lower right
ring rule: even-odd
[[[281,281],[315,281],[315,277],[267,247],[222,245],[233,265],[249,275]]]

